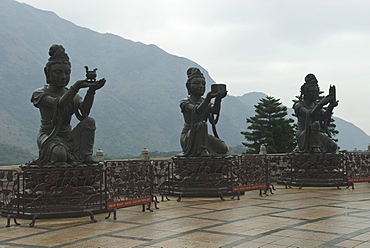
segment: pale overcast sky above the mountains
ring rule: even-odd
[[[334,115],[370,134],[368,0],[18,1],[193,60],[234,96],[259,91],[291,107],[314,73],[326,94],[337,88]]]

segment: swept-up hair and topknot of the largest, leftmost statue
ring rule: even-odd
[[[68,54],[65,53],[64,47],[61,45],[52,45],[49,49],[49,59],[45,65],[44,72],[46,76],[46,82],[49,84],[51,80],[51,72],[54,68],[60,67],[60,69],[71,70],[71,63],[69,62]],[[68,69],[69,68],[69,69]],[[68,77],[69,81],[69,77]],[[67,82],[68,83],[68,82]]]

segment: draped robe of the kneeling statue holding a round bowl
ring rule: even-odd
[[[202,98],[202,101],[204,99]],[[207,149],[210,155],[224,155],[228,148],[224,141],[208,134],[207,119],[210,114],[211,104],[200,114],[196,114],[196,107],[200,103],[194,103],[190,98],[180,102],[181,112],[184,116],[184,127],[181,132],[180,144],[183,156],[197,157],[202,150]]]

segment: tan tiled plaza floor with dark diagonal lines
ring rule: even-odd
[[[274,195],[247,192],[240,200],[182,198],[141,212],[120,209],[66,219],[18,219],[5,227],[0,247],[370,247],[370,184],[355,189],[277,186]],[[153,208],[154,209],[154,208]],[[1,224],[1,223],[0,223]]]

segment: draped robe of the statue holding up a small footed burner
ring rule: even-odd
[[[43,88],[35,90],[31,102],[39,108],[41,114],[41,126],[37,137],[39,157],[33,164],[48,164],[51,152],[55,146],[64,147],[67,151],[67,163],[82,163],[86,155],[93,153],[95,121],[87,117],[81,109],[82,98],[76,94],[72,102],[65,108],[58,108],[58,101],[62,95]],[[52,99],[53,106],[46,104]],[[72,115],[80,120],[72,130],[70,125]]]

